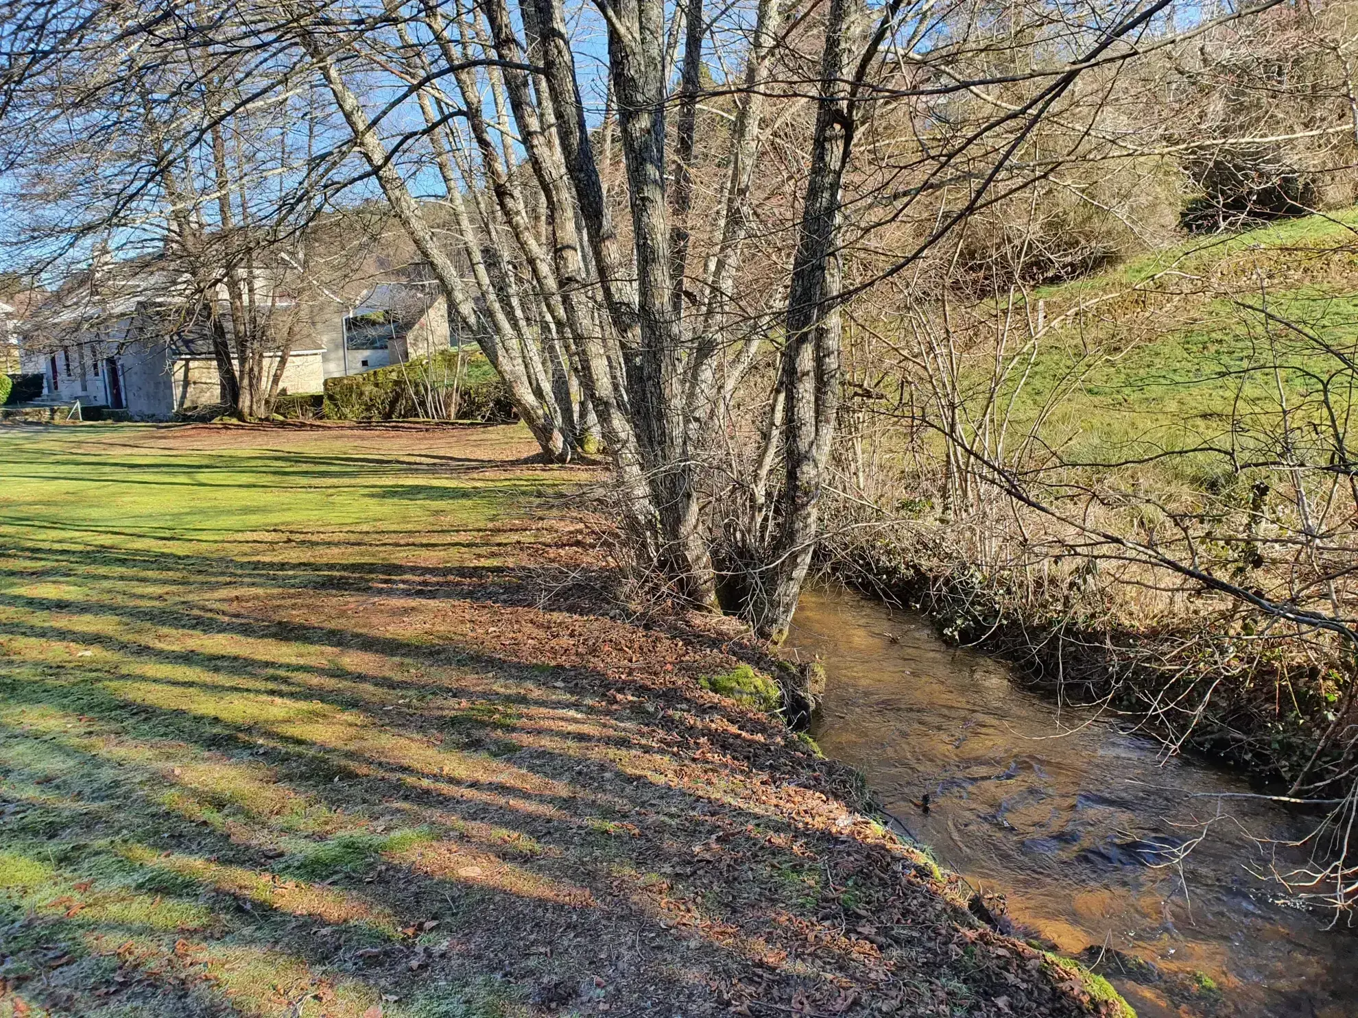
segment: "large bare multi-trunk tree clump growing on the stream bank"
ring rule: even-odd
[[[254,239],[380,197],[545,456],[606,451],[638,571],[770,637],[819,538],[847,301],[1078,160],[1127,61],[1176,31],[1169,0],[20,7],[5,100],[79,109],[84,140],[149,102],[160,148],[107,200],[153,197],[189,255],[223,242],[219,320],[250,327]],[[1218,15],[1240,11],[1177,30]],[[273,201],[232,204],[223,153],[268,163],[242,136],[292,153],[254,176]]]

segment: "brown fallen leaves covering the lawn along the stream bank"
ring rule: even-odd
[[[421,441],[436,440],[421,433]],[[455,441],[454,455],[463,456],[470,438]],[[365,999],[392,991],[363,1018],[383,1018],[398,995],[418,998],[445,979],[504,985],[538,1008],[625,1015],[655,998],[690,1014],[716,996],[752,1018],[861,1018],[940,1011],[949,992],[953,1002],[993,1000],[990,1011],[1006,1015],[1077,1014],[1070,988],[1054,985],[1061,973],[1029,969],[1009,941],[959,937],[951,905],[870,827],[845,772],[805,755],[777,718],[722,706],[698,690],[697,676],[733,666],[732,650],[755,653],[740,634],[686,616],[627,618],[608,601],[611,573],[577,539],[579,523],[539,520],[535,531],[478,523],[469,539],[473,531],[458,532],[454,509],[445,509],[439,525],[447,529],[429,528],[418,542],[406,529],[365,533],[371,562],[354,562],[345,531],[314,586],[291,582],[310,563],[289,558],[287,585],[243,597],[232,590],[230,611],[249,619],[249,633],[230,638],[287,641],[251,654],[296,658],[296,668],[269,679],[278,685],[268,694],[292,684],[288,695],[270,698],[274,707],[306,699],[312,709],[342,703],[348,711],[357,700],[364,725],[350,732],[327,723],[308,741],[303,729],[280,738],[268,730],[272,722],[251,723],[230,755],[251,752],[258,767],[266,756],[270,780],[314,797],[315,816],[251,813],[223,791],[215,809],[228,827],[193,829],[168,844],[213,863],[220,855],[251,880],[269,874],[276,882],[268,900],[231,894],[221,907],[228,892],[208,892],[223,896],[209,905],[220,927],[191,934],[206,946],[174,939],[190,928],[172,915],[155,935],[128,941],[117,973],[91,992],[124,994],[129,1006],[144,996],[156,1000],[158,1014],[174,1014],[187,1013],[174,996],[187,988],[234,1013],[287,1014],[320,992],[315,973],[335,966],[367,988]],[[429,550],[435,533],[451,538],[455,550]],[[323,558],[326,538],[314,542]],[[477,544],[486,561],[493,555],[493,567],[473,565],[464,544]],[[384,551],[388,559],[379,558]],[[272,576],[269,554],[261,546],[239,562]],[[545,601],[535,571],[543,562],[587,580],[553,588]],[[205,669],[221,650],[202,634],[159,631],[158,639],[179,641]],[[210,694],[213,710],[232,703],[221,688]],[[312,709],[303,713],[323,714]],[[287,718],[277,723],[300,717],[274,713]],[[129,714],[120,723],[149,729],[153,718]],[[230,755],[217,761],[223,772]],[[198,767],[158,757],[155,771],[182,790]],[[588,818],[607,836],[584,828]],[[312,823],[323,829],[308,829]],[[430,840],[293,886],[293,866],[307,865],[311,848],[345,825],[364,837],[428,827]],[[285,858],[287,867],[270,862]],[[285,878],[293,892],[287,900],[278,893]],[[851,899],[843,893],[849,880]],[[568,885],[569,896],[561,890]],[[77,897],[94,881],[72,886],[76,893],[50,901],[42,920],[98,926],[99,911]],[[100,877],[94,901],[102,905],[109,893]],[[163,900],[156,893],[147,904],[148,893],[139,907],[197,907],[200,893],[166,889]],[[322,909],[312,894],[352,896],[360,907]],[[235,964],[223,961],[228,949],[240,943],[266,958],[259,969],[277,980],[278,1000],[251,996],[259,987],[246,985],[239,969],[221,977],[227,988],[205,988],[215,979],[208,960],[227,968]],[[274,960],[292,973],[276,975]],[[949,989],[940,988],[944,980]],[[242,987],[246,999],[232,1000],[228,988]]]

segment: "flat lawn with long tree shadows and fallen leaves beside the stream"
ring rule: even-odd
[[[528,451],[0,432],[0,1015],[1116,1011],[607,614]]]

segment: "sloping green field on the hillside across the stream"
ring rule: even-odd
[[[1046,414],[1046,445],[1112,463],[1202,444],[1251,448],[1297,423],[1347,425],[1358,362],[1358,210],[1186,242],[1116,270],[1028,295],[1051,327],[1009,342],[1001,385],[1010,429]],[[976,308],[982,322],[1002,309]],[[1024,314],[1020,304],[1019,314]],[[985,328],[982,334],[985,334]],[[990,330],[993,331],[993,328]],[[971,406],[990,385],[993,342],[967,369]],[[1021,384],[1020,384],[1021,379]],[[1010,442],[1012,444],[1012,442]],[[1164,460],[1165,480],[1200,480],[1209,456]]]

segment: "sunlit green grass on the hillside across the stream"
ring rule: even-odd
[[[1047,314],[1088,305],[1044,338],[1020,399],[1031,418],[1071,373],[1080,383],[1047,426],[1052,444],[1096,460],[1187,448],[1221,436],[1233,407],[1268,413],[1277,400],[1272,350],[1283,364],[1323,373],[1334,361],[1283,327],[1264,328],[1232,297],[1267,296],[1278,315],[1323,330],[1336,346],[1358,341],[1358,209],[1312,216],[1236,236],[1199,238],[1114,271],[1043,288]],[[1262,295],[1260,278],[1266,282]],[[1313,391],[1283,373],[1293,398]],[[1184,460],[1187,471],[1194,460]],[[1169,464],[1180,468],[1180,463]]]

